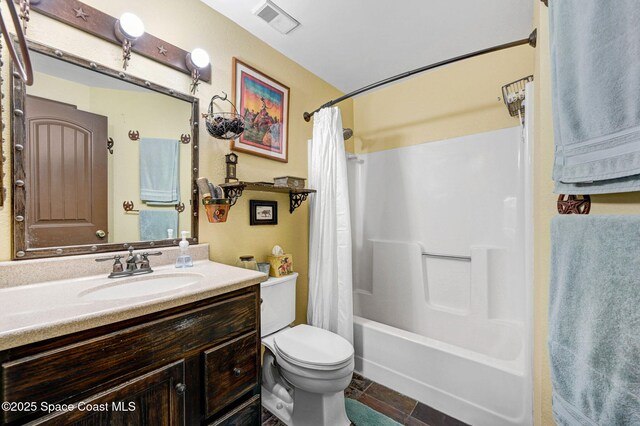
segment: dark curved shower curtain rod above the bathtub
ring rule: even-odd
[[[309,122],[311,121],[311,117],[313,116],[313,114],[315,114],[316,112],[320,111],[323,108],[328,108],[330,106],[333,106],[337,103],[340,103],[342,101],[346,101],[349,98],[353,98],[356,95],[359,95],[361,93],[367,92],[371,89],[375,89],[377,87],[380,86],[384,86],[385,84],[389,84],[389,83],[393,83],[394,81],[398,81],[398,80],[402,80],[403,78],[407,78],[410,77],[414,74],[419,74],[421,72],[424,71],[429,71],[431,69],[434,68],[438,68],[441,67],[443,65],[449,65],[452,64],[454,62],[458,62],[458,61],[462,61],[464,59],[469,59],[469,58],[473,58],[474,56],[480,56],[480,55],[484,55],[486,53],[492,53],[492,52],[497,52],[499,50],[504,50],[504,49],[509,49],[511,47],[516,47],[516,46],[520,46],[523,44],[529,44],[531,47],[536,47],[536,38],[537,38],[537,29],[534,29],[531,34],[529,35],[529,38],[523,38],[522,40],[516,40],[516,41],[512,41],[510,43],[505,43],[505,44],[501,44],[498,46],[494,46],[494,47],[489,47],[488,49],[482,49],[482,50],[477,50],[475,52],[472,53],[467,53],[466,55],[461,55],[461,56],[456,56],[455,58],[450,58],[444,61],[440,61],[440,62],[436,62],[435,64],[431,64],[431,65],[426,65],[424,67],[420,67],[420,68],[416,68],[415,70],[411,70],[411,71],[407,71],[404,72],[402,74],[398,74],[398,75],[394,75],[393,77],[389,77],[389,78],[385,78],[384,80],[380,80],[376,83],[372,83],[368,86],[365,87],[361,87],[360,89],[354,90],[351,93],[347,93],[346,95],[342,95],[337,99],[334,99],[332,101],[327,102],[326,104],[320,106],[318,109],[316,109],[315,111],[312,112],[305,112],[302,116],[304,118],[304,121]]]

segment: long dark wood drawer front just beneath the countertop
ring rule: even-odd
[[[150,371],[167,360],[255,330],[256,294],[125,328],[33,356],[4,362],[3,400],[70,402]],[[255,352],[255,349],[254,349]],[[23,413],[4,412],[3,421]]]

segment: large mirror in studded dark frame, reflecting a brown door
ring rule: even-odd
[[[196,243],[198,98],[29,50],[34,84],[12,79],[14,259]]]

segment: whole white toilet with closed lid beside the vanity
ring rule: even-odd
[[[344,390],[353,374],[353,346],[317,327],[289,326],[297,278],[293,273],[261,284],[262,405],[288,426],[348,426]]]

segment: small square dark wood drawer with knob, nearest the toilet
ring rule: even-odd
[[[258,362],[256,332],[204,352],[206,417],[258,384]]]

